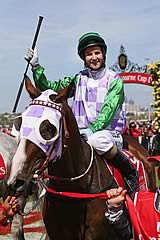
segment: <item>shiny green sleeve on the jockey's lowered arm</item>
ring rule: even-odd
[[[105,129],[114,118],[124,101],[124,85],[121,78],[114,80],[109,88],[105,102],[97,119],[90,125],[93,132]]]

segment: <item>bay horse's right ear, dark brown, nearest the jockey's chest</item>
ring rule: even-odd
[[[57,91],[58,95],[55,99],[55,102],[60,103],[64,100],[67,100],[72,95],[74,83],[72,82],[68,87]]]

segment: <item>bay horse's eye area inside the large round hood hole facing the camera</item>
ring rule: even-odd
[[[44,120],[39,127],[39,132],[45,140],[51,140],[57,135],[56,127],[48,120]]]

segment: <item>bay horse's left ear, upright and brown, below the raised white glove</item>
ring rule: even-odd
[[[26,90],[29,93],[30,97],[32,99],[35,99],[36,97],[40,96],[41,92],[32,84],[31,80],[26,74],[24,74],[24,80]]]

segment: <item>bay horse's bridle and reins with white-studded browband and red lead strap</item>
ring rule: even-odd
[[[58,110],[61,114],[62,114],[62,120],[63,120],[63,127],[64,127],[64,151],[65,149],[68,147],[67,145],[67,139],[69,138],[69,131],[67,128],[67,124],[66,124],[66,119],[65,119],[65,114],[64,114],[64,110],[62,109],[62,107],[56,103],[52,103],[49,101],[42,101],[42,100],[32,100],[32,102],[30,103],[30,105],[41,105],[41,106],[47,106],[47,107],[51,107],[53,109]],[[37,184],[40,185],[41,187],[41,193],[38,197],[38,199],[35,201],[35,203],[33,204],[33,206],[26,212],[19,212],[20,215],[22,216],[26,216],[28,215],[30,212],[32,212],[40,203],[40,201],[42,200],[42,198],[44,197],[44,195],[46,194],[46,192],[48,193],[52,193],[54,195],[57,196],[61,196],[61,197],[68,197],[68,198],[77,198],[77,199],[108,199],[108,195],[106,192],[100,192],[100,193],[78,193],[78,192],[58,192],[55,191],[49,187],[47,187],[47,185],[44,183],[44,179],[51,179],[51,180],[55,180],[55,181],[68,181],[68,182],[73,182],[76,181],[78,179],[83,178],[91,169],[92,164],[93,164],[93,160],[94,160],[94,151],[93,151],[93,147],[89,144],[90,149],[91,149],[91,158],[90,158],[90,163],[87,167],[87,169],[80,175],[78,176],[74,176],[74,177],[58,177],[58,176],[52,176],[52,175],[47,175],[44,173],[44,170],[48,167],[49,164],[49,160],[50,157],[52,155],[52,152],[54,151],[54,145],[49,149],[49,152],[46,155],[46,159],[44,161],[44,163],[42,164],[42,166],[40,167],[40,169],[36,170],[34,175],[33,175],[33,181],[35,181]]]

